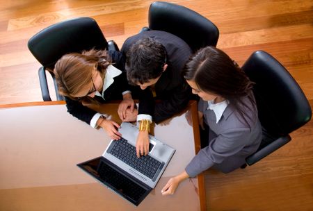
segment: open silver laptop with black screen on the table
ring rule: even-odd
[[[115,193],[138,206],[157,185],[175,149],[150,135],[149,153],[137,158],[138,128],[123,122],[120,140],[111,140],[98,158],[81,162],[78,167]]]

